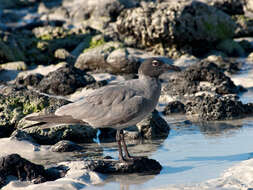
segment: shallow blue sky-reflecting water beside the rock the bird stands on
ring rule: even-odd
[[[102,186],[85,189],[139,190],[199,183],[217,178],[227,168],[253,157],[253,117],[230,123],[177,122],[171,127],[166,140],[149,141],[129,148],[135,155],[147,155],[159,161],[163,166],[159,175],[114,176]],[[109,151],[105,148],[104,154],[117,157],[116,149]]]

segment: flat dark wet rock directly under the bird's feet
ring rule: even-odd
[[[132,162],[122,163],[116,160],[91,160],[87,161],[87,169],[103,174],[159,174],[162,166],[153,159],[140,157]]]

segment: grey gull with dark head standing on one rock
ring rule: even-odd
[[[54,115],[32,116],[26,119],[117,129],[119,160],[132,160],[122,129],[137,124],[155,109],[161,93],[158,77],[168,70],[180,71],[178,67],[165,64],[158,58],[147,59],[138,70],[138,79],[96,89],[83,99],[60,107]]]

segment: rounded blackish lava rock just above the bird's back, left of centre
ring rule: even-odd
[[[36,87],[41,92],[54,95],[68,95],[77,88],[95,82],[95,79],[73,66],[63,66],[45,76]]]

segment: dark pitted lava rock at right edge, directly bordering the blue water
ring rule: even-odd
[[[243,104],[234,95],[202,95],[185,104],[186,113],[201,120],[227,120],[253,114],[253,104]]]

